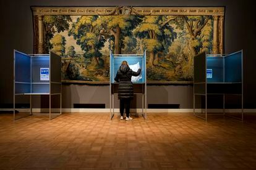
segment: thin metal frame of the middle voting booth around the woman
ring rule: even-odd
[[[144,57],[144,63],[145,63],[145,68],[143,68],[142,65],[142,70],[145,70],[145,86],[143,86],[143,92],[134,92],[134,94],[142,94],[142,116],[146,120],[147,119],[147,54],[146,51],[144,51],[144,54],[112,54],[111,51],[109,51],[109,67],[111,67],[111,55],[114,57]],[[114,70],[113,70],[114,71]],[[110,111],[110,120],[113,119],[114,117],[114,87],[112,86],[113,83],[111,83],[111,75],[114,76],[114,73],[111,74],[111,68],[109,68],[109,111]],[[117,83],[114,83],[117,84]],[[113,93],[112,93],[113,90]],[[145,105],[144,105],[144,100],[145,100]],[[144,111],[145,110],[145,111]]]

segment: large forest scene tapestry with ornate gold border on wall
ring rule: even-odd
[[[109,83],[109,51],[147,51],[148,83],[190,83],[193,57],[223,53],[224,7],[32,7],[34,51],[62,57],[62,81]]]

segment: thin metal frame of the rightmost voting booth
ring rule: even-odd
[[[225,60],[224,58],[225,57],[229,57],[229,55],[233,55],[233,54],[237,54],[241,52],[241,82],[231,82],[231,83],[228,83],[228,82],[224,82],[225,81]],[[243,69],[243,51],[237,51],[237,52],[233,52],[231,54],[206,54],[206,52],[202,52],[201,54],[205,54],[205,81],[202,82],[202,83],[195,83],[195,60],[194,60],[194,81],[193,81],[193,113],[195,116],[197,116],[198,118],[201,118],[201,119],[205,119],[205,121],[207,121],[207,115],[208,115],[208,112],[207,112],[207,95],[223,95],[223,116],[228,116],[230,118],[234,118],[234,119],[239,119],[241,121],[244,121],[244,69]],[[198,55],[201,55],[201,54],[198,54]],[[198,55],[195,55],[195,57],[197,57]],[[194,57],[194,59],[195,59]],[[223,58],[223,83],[221,82],[217,82],[217,83],[208,83],[207,82],[207,58],[216,58],[218,57],[218,59],[221,59]],[[239,84],[241,83],[241,94],[240,93],[233,93],[233,94],[228,94],[228,95],[241,95],[241,118],[237,118],[233,115],[230,115],[228,113],[225,112],[225,100],[226,100],[226,93],[213,93],[213,94],[210,94],[207,92],[207,84]],[[205,84],[205,93],[195,93],[195,84]],[[200,116],[200,115],[197,115],[196,111],[195,111],[195,96],[197,95],[201,95],[201,96],[205,96],[205,117],[203,116]],[[201,108],[202,110],[202,108]]]

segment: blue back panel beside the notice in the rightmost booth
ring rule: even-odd
[[[223,57],[207,57],[207,69],[211,69],[211,78],[207,78],[207,83],[223,83]]]

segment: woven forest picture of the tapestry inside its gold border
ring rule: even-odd
[[[109,50],[147,51],[148,81],[192,81],[194,55],[211,53],[211,16],[46,15],[45,51],[62,56],[62,80],[109,81]]]

